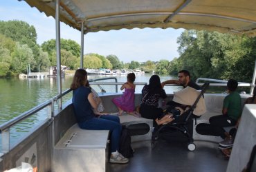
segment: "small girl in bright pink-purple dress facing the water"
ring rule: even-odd
[[[112,102],[118,107],[118,116],[121,116],[124,111],[127,111],[128,114],[134,114],[134,92],[136,87],[134,80],[135,74],[129,73],[127,82],[121,87],[121,90],[125,89],[125,92],[123,92],[122,96],[112,99]]]

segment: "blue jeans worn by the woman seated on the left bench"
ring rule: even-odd
[[[81,129],[109,130],[111,133],[111,152],[119,151],[119,140],[122,131],[118,116],[102,115],[78,123]]]

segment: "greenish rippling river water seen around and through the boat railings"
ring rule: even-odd
[[[135,83],[148,83],[151,74],[136,75]],[[89,75],[89,79],[113,77],[113,76],[99,76]],[[118,83],[125,83],[127,76],[115,76]],[[161,76],[161,81],[170,79],[170,76]],[[62,78],[62,92],[68,89],[71,85],[73,76],[65,76]],[[114,82],[114,80],[102,80],[100,82]],[[97,85],[91,85],[97,92],[100,89]],[[116,87],[113,85],[102,85],[106,92],[116,92]],[[136,86],[136,93],[140,93],[142,85]],[[178,91],[181,87],[165,87],[167,93]],[[118,92],[120,85],[118,85]],[[57,95],[57,78],[0,78],[0,125],[8,120],[18,116],[19,114],[28,111],[29,109],[44,103],[53,96]],[[68,94],[65,100],[70,99],[72,94]],[[64,103],[63,103],[64,104]],[[47,109],[39,111],[34,116],[27,120],[20,122],[10,129],[10,145],[15,144],[18,140],[23,138],[26,133],[31,131],[40,122],[46,120]],[[1,136],[0,136],[1,144]],[[1,149],[1,145],[0,145]]]

